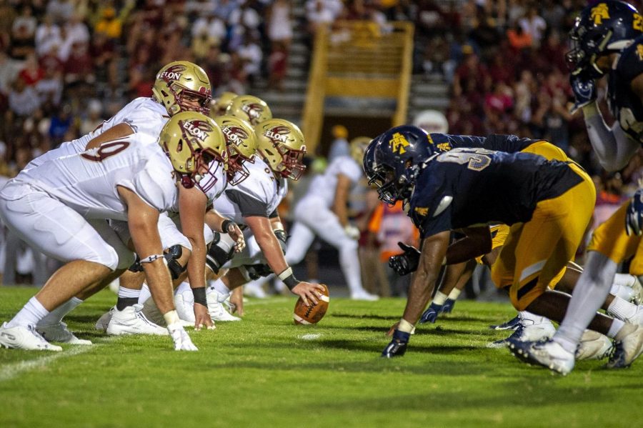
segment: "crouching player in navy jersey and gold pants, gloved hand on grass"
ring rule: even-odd
[[[569,297],[547,287],[572,259],[592,216],[592,180],[574,163],[487,149],[440,154],[428,140],[421,129],[399,126],[375,139],[364,154],[364,171],[380,199],[406,201],[423,238],[404,317],[382,356],[406,352],[445,262],[450,230],[473,224],[511,227],[492,277],[509,289],[514,307],[562,319]],[[643,347],[642,327],[596,314],[590,328]],[[608,367],[630,364],[638,354],[616,352]]]

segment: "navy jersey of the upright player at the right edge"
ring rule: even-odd
[[[643,143],[643,103],[632,91],[632,80],[643,73],[643,36],[621,52],[607,78],[607,103],[629,136]]]

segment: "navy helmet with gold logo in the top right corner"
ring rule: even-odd
[[[569,31],[572,50],[565,57],[570,71],[574,76],[583,73],[599,79],[604,72],[596,64],[597,58],[622,51],[641,34],[643,18],[631,4],[608,0],[587,6]]]

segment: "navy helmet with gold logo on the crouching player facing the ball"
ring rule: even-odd
[[[397,126],[377,136],[364,151],[364,172],[387,204],[408,199],[422,164],[436,153],[429,134],[417,126]]]

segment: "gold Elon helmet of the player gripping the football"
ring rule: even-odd
[[[306,169],[304,166],[304,134],[295,124],[284,119],[269,119],[254,128],[257,151],[272,171],[297,180]]]

